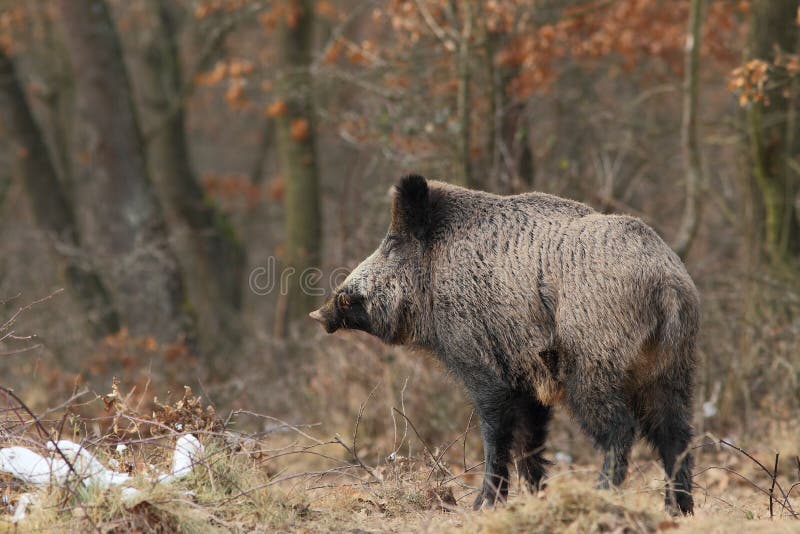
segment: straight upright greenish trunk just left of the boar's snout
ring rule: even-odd
[[[319,267],[322,245],[310,72],[313,2],[286,0],[286,5],[291,15],[282,17],[278,34],[282,68],[278,90],[286,109],[276,117],[276,130],[286,181],[285,263],[294,271],[287,277],[285,313],[277,318],[279,333],[285,333],[292,321],[305,320],[314,309],[317,297],[312,294],[307,270]]]

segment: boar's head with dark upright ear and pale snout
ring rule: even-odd
[[[431,190],[422,176],[404,176],[392,189],[392,218],[381,244],[309,315],[328,333],[363,330],[386,343],[417,340],[424,283]]]

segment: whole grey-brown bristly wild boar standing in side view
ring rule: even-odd
[[[624,480],[638,431],[663,462],[667,508],[692,513],[699,297],[639,219],[405,176],[386,237],[310,315],[429,351],[463,381],[484,447],[476,509],[506,498],[512,450],[540,485],[561,404],[605,455],[601,487]]]

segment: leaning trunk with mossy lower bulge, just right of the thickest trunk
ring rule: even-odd
[[[165,0],[152,3],[155,25],[136,78],[149,134],[150,173],[171,226],[188,230],[187,239],[177,236],[188,249],[181,258],[187,290],[197,311],[199,341],[216,352],[216,345],[237,337],[244,251],[231,222],[206,197],[192,169],[176,42],[178,25]]]

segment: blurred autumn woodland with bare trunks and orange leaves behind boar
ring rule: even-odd
[[[0,0],[2,382],[38,409],[189,384],[334,428],[380,384],[365,435],[401,401],[458,434],[434,361],[306,317],[413,171],[641,217],[702,294],[698,430],[791,422],[799,7]]]

